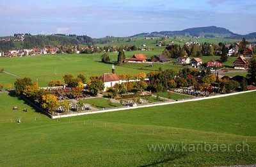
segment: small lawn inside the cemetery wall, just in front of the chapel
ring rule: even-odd
[[[85,99],[83,100],[83,103],[90,104],[92,106],[92,103],[95,102],[95,107],[97,108],[112,108],[112,107],[122,107],[121,104],[112,102],[111,105],[108,104],[108,100],[104,98],[93,98],[93,99]]]

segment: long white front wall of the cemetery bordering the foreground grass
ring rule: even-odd
[[[155,107],[155,106],[164,106],[164,105],[170,105],[170,104],[179,104],[182,102],[195,102],[195,101],[200,101],[200,100],[207,100],[207,99],[216,99],[220,97],[228,97],[232,95],[239,95],[243,93],[249,93],[253,92],[256,90],[249,90],[249,91],[241,91],[241,92],[236,92],[236,93],[229,93],[225,95],[216,95],[216,96],[211,96],[211,97],[202,97],[202,98],[196,98],[196,99],[188,99],[188,100],[179,100],[175,102],[161,102],[157,104],[147,104],[143,106],[136,106],[136,107],[122,107],[122,108],[115,108],[115,109],[106,109],[102,111],[92,111],[88,113],[76,113],[76,114],[71,114],[71,115],[59,115],[59,116],[52,116],[52,119],[55,118],[65,118],[65,117],[71,117],[71,116],[79,116],[79,115],[92,115],[92,114],[97,114],[97,113],[108,113],[108,112],[114,112],[114,111],[122,111],[122,110],[128,110],[128,109],[137,109],[137,108],[143,108],[143,107]]]

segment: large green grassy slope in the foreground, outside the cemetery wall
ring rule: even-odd
[[[241,100],[246,99],[246,100]],[[0,93],[1,166],[214,166],[256,163],[256,93],[51,120]],[[13,111],[13,106],[19,110]],[[22,108],[28,108],[24,113]],[[22,123],[14,122],[21,117]],[[11,122],[12,120],[12,122]],[[244,141],[250,150],[233,151]],[[230,151],[153,151],[218,143]]]

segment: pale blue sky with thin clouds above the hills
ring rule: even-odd
[[[256,31],[255,0],[1,0],[0,36],[65,33],[131,36],[218,26]]]

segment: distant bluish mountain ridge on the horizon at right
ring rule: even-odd
[[[179,36],[179,35],[191,35],[191,36],[206,36],[206,37],[220,37],[220,38],[243,38],[253,39],[256,37],[255,33],[248,35],[239,35],[229,31],[226,28],[218,28],[216,26],[200,27],[200,28],[188,28],[181,31],[154,31],[151,33],[140,33],[132,35],[130,37],[154,37],[154,36]],[[246,38],[245,37],[245,38]]]

